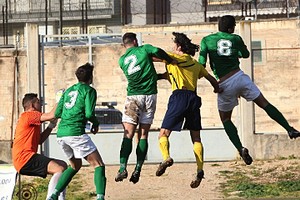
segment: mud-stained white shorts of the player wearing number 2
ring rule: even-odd
[[[156,110],[157,95],[127,96],[122,122],[131,124],[152,124]]]

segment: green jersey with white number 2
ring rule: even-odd
[[[171,62],[162,49],[145,44],[130,47],[119,59],[119,65],[127,78],[127,95],[150,95],[157,93],[157,74],[152,57]]]

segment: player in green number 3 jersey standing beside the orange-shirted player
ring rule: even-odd
[[[72,180],[82,166],[82,158],[86,159],[95,169],[94,183],[97,200],[103,200],[105,196],[105,165],[95,144],[85,133],[87,121],[93,123],[91,128],[93,134],[98,132],[99,126],[94,113],[97,92],[90,86],[93,81],[93,69],[93,65],[86,63],[76,70],[78,83],[63,93],[55,111],[55,117],[61,118],[57,131],[57,142],[69,159],[71,166],[61,175],[50,199],[57,199],[57,195]]]

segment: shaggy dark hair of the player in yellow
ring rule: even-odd
[[[192,43],[191,39],[189,39],[184,33],[173,32],[172,34],[175,36],[173,41],[177,45],[181,46],[181,51],[183,53],[194,56],[195,53],[199,51],[199,45]]]

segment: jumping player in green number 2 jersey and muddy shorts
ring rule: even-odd
[[[127,97],[123,110],[123,141],[120,150],[120,169],[115,181],[127,178],[127,162],[132,151],[132,138],[138,128],[136,147],[137,163],[130,182],[137,183],[148,151],[148,132],[153,122],[157,99],[157,74],[152,57],[172,62],[172,58],[160,48],[150,44],[138,46],[135,33],[125,33],[123,44],[126,52],[119,59],[119,65],[127,78]]]

